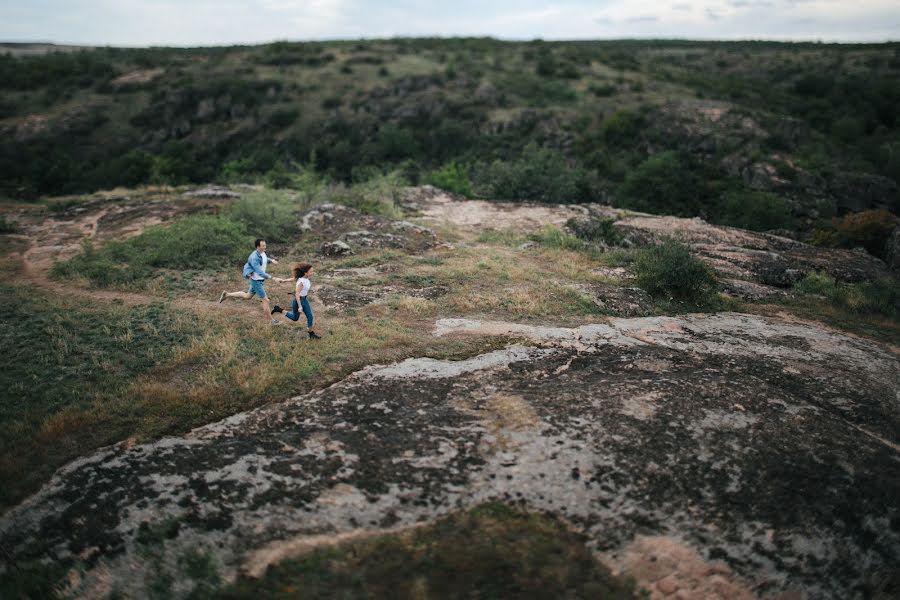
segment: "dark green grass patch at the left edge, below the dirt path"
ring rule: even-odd
[[[161,304],[87,305],[0,286],[0,505],[81,451],[125,437],[137,412],[118,403],[91,427],[98,403],[189,343],[198,321]]]

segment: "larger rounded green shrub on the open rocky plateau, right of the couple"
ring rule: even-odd
[[[699,303],[715,289],[716,278],[709,267],[678,241],[640,249],[633,264],[637,284],[656,297]]]

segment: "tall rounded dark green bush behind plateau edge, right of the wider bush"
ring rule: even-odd
[[[691,217],[704,208],[705,189],[672,151],[644,161],[619,186],[616,204],[643,212]]]

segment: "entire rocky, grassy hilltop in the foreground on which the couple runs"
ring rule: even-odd
[[[6,207],[4,597],[896,593],[883,261],[305,177]]]

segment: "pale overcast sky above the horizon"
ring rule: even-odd
[[[0,41],[208,46],[392,36],[900,40],[898,0],[0,0]]]

